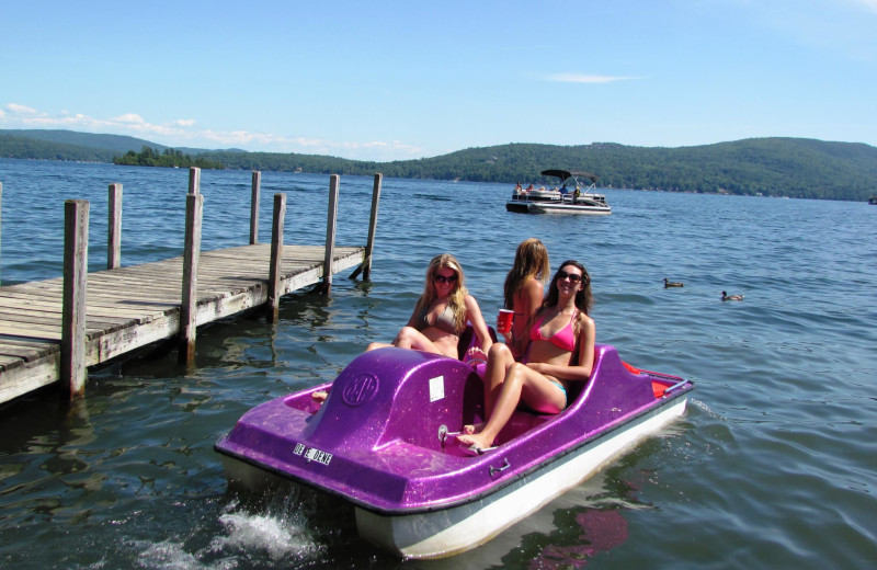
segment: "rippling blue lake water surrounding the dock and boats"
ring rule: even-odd
[[[329,176],[262,180],[261,241],[284,192],[285,242],[321,244]],[[182,253],[186,170],[7,159],[0,182],[3,284],[60,274],[66,198],[91,201],[90,265],[105,266],[112,182],[123,264]],[[365,242],[371,192],[371,178],[341,178],[339,244]],[[204,171],[202,193],[204,249],[247,243],[250,173]],[[50,391],[0,408],[0,567],[874,568],[877,207],[607,190],[612,216],[553,217],[506,213],[510,193],[386,179],[371,283],[337,275],[330,298],[284,298],[275,326],[200,330],[193,372],[157,353],[92,372],[70,410]],[[457,255],[494,315],[528,237],[553,270],[588,266],[599,342],[696,383],[680,421],[447,560],[383,554],[311,497],[227,490],[213,444],[246,410],[390,340],[434,254]]]

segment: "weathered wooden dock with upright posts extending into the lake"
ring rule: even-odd
[[[253,180],[255,186],[255,176]],[[0,403],[55,383],[71,397],[79,396],[87,367],[166,339],[180,339],[181,360],[191,363],[197,326],[260,306],[265,307],[269,319],[272,311],[276,318],[281,296],[309,286],[328,292],[332,274],[357,265],[352,276],[365,270],[367,277],[380,175],[375,176],[366,247],[334,246],[335,176],[332,184],[335,194],[334,198],[330,194],[326,247],[283,246],[285,196],[275,195],[271,243],[201,252],[195,224],[194,255],[187,247],[178,258],[76,275],[68,271],[66,253],[64,277],[0,286]],[[187,197],[192,204],[197,196]],[[66,241],[66,249],[77,249],[75,239]],[[70,300],[76,295],[69,293],[77,280],[84,283],[79,301]],[[77,303],[84,318],[70,316],[71,310],[76,312],[70,307]],[[70,323],[76,327],[78,321],[79,332],[70,332]],[[72,347],[68,340],[71,335]],[[81,339],[78,344],[77,337]],[[191,354],[183,357],[186,343]],[[77,368],[81,368],[79,374]]]

